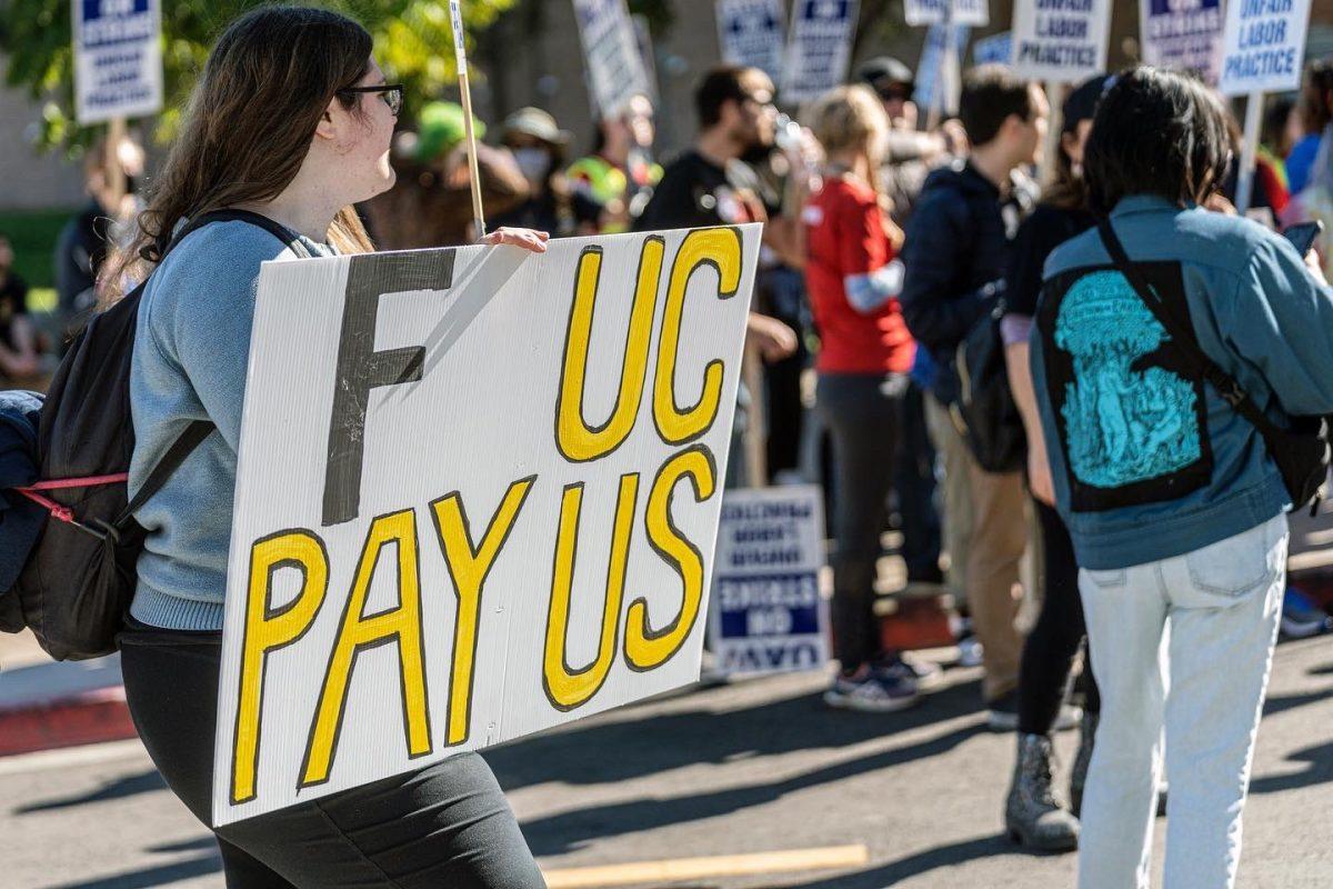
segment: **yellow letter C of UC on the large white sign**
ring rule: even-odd
[[[722,363],[717,359],[704,368],[704,387],[694,407],[676,404],[676,352],[680,347],[680,324],[685,309],[689,279],[701,268],[717,272],[718,299],[736,296],[741,281],[741,233],[736,228],[705,228],[690,232],[676,251],[666,285],[666,309],[663,333],[657,341],[657,372],[653,380],[653,421],[668,444],[684,444],[708,432],[717,419],[722,395]]]

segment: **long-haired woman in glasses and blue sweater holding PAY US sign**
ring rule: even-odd
[[[372,249],[352,204],[393,185],[403,91],[385,83],[371,49],[371,35],[333,12],[267,7],[235,21],[123,263],[152,273],[131,373],[131,494],[183,429],[213,427],[135,513],[148,538],[120,637],[139,734],[205,824],[260,264]],[[487,243],[543,252],[545,237],[501,229]],[[489,768],[468,753],[216,833],[228,886],[545,885]]]

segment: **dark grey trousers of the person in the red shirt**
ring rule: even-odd
[[[833,653],[854,670],[880,653],[874,568],[908,377],[821,373],[816,404],[833,443]]]

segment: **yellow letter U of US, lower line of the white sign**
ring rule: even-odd
[[[629,536],[639,504],[639,473],[620,477],[616,500],[616,524],[611,533],[611,556],[607,561],[607,594],[601,608],[601,634],[597,656],[588,666],[575,670],[565,660],[569,634],[569,594],[573,586],[575,556],[579,548],[579,517],[583,508],[583,484],[568,485],[560,501],[560,528],[556,532],[556,558],[551,577],[551,610],[547,614],[547,649],[543,658],[543,682],[547,697],[557,710],[572,710],[584,704],[601,684],[616,658],[616,630],[620,626],[620,602],[625,594],[625,564],[629,561]]]

